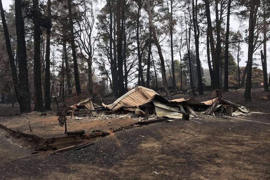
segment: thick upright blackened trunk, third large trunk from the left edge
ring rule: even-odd
[[[44,111],[41,89],[41,12],[39,11],[39,0],[33,0],[34,21],[34,111]]]

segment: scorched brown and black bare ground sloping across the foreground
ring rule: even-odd
[[[265,98],[267,93],[262,89],[252,90],[250,103],[244,103],[243,93],[244,90],[231,90],[223,97],[251,111],[269,112],[270,100]],[[205,94],[196,99],[208,100],[211,93]],[[185,96],[188,95],[174,98]],[[23,142],[16,137],[7,138],[1,130],[0,178],[270,179],[269,114],[191,120],[194,121],[134,127],[111,133],[77,151],[41,153],[7,162],[3,161],[24,157],[30,152],[27,146],[22,147]],[[10,138],[15,142],[7,141]]]

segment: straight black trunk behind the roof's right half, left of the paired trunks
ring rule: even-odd
[[[199,95],[203,95],[203,83],[202,83],[202,76],[201,76],[201,62],[200,62],[200,50],[199,50],[200,29],[198,25],[197,9],[198,9],[197,0],[195,4],[194,4],[194,0],[192,0],[192,19],[193,19],[193,28],[194,28],[194,37],[195,37],[198,90],[199,90]]]

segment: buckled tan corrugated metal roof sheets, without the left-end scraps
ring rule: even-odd
[[[151,114],[156,114],[159,117],[173,119],[182,119],[183,114],[190,114],[192,117],[204,114],[215,116],[219,109],[221,114],[223,110],[223,112],[226,111],[230,116],[247,115],[249,112],[247,108],[221,97],[204,102],[199,102],[193,98],[187,100],[184,98],[167,100],[158,95],[154,90],[142,86],[136,86],[110,105],[105,105],[104,103],[102,105],[112,111],[123,108],[124,110],[135,111],[135,113],[143,115],[151,112]],[[149,109],[151,110],[149,111]]]

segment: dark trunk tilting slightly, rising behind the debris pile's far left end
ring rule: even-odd
[[[77,64],[77,55],[75,48],[75,37],[74,37],[74,28],[73,28],[73,15],[71,10],[71,0],[68,0],[68,14],[69,14],[69,26],[70,26],[70,42],[72,49],[72,57],[73,57],[73,65],[74,65],[74,79],[75,79],[75,87],[78,94],[81,93],[80,89],[80,78]]]

